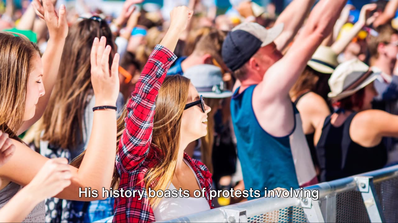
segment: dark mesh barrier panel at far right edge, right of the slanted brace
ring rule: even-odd
[[[398,178],[375,184],[386,222],[398,222]]]

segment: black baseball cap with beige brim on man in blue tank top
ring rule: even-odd
[[[263,46],[273,42],[283,31],[283,23],[265,29],[258,23],[244,22],[226,36],[221,55],[224,63],[236,71],[252,58]]]

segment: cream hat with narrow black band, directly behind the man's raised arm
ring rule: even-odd
[[[330,47],[321,45],[307,65],[320,73],[333,73],[339,62],[336,53]]]

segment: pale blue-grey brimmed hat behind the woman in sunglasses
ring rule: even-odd
[[[199,95],[204,98],[228,98],[232,96],[232,92],[226,90],[226,85],[222,81],[220,67],[210,64],[195,65],[187,69],[183,76],[191,80]]]

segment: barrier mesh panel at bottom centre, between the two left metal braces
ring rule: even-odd
[[[301,207],[293,206],[279,211],[272,211],[253,217],[248,217],[248,222],[298,222],[306,223],[307,218]]]

